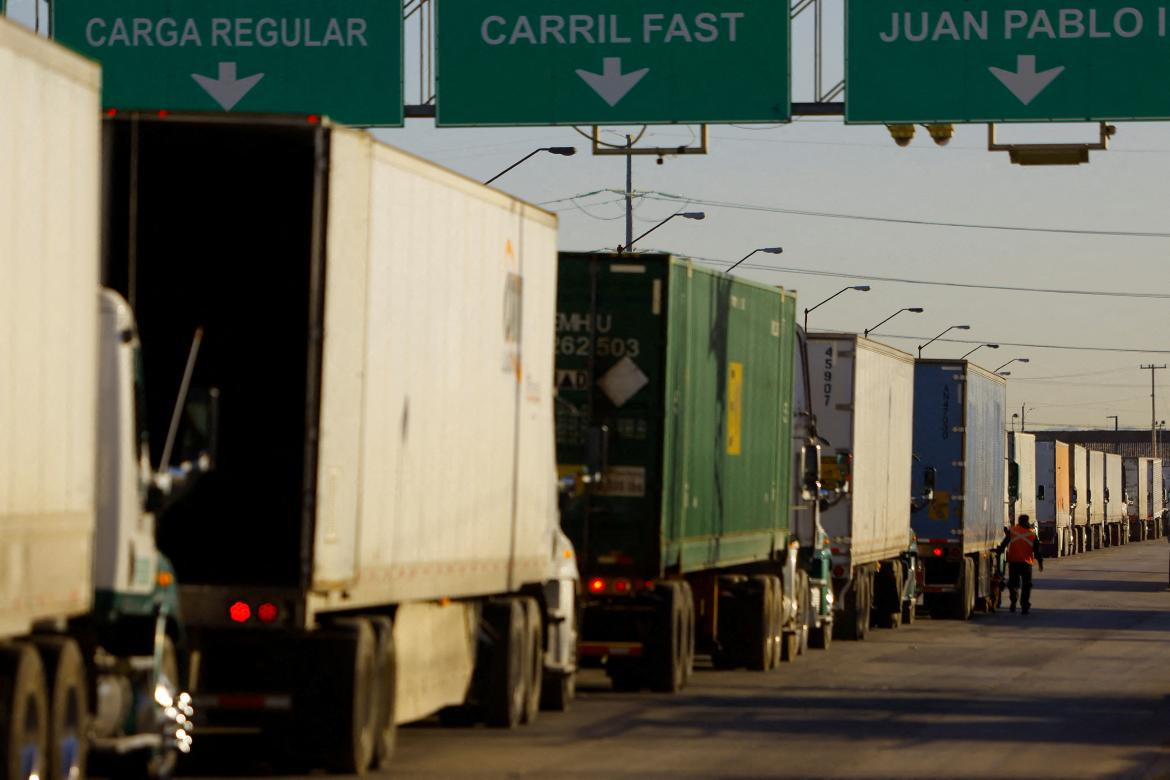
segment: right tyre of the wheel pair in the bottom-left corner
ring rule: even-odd
[[[85,776],[89,754],[87,738],[89,685],[85,662],[77,643],[63,636],[39,636],[34,643],[41,653],[44,677],[49,683],[49,751],[47,776],[70,780]]]

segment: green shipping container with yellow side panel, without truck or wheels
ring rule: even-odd
[[[557,460],[608,427],[600,484],[562,525],[584,577],[656,578],[784,554],[796,297],[669,255],[562,253]]]

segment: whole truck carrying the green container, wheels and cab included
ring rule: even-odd
[[[600,478],[563,524],[584,582],[583,663],[674,692],[695,653],[769,670],[832,636],[820,449],[793,406],[796,297],[662,254],[562,253],[560,469]],[[796,378],[804,384],[806,374]],[[804,516],[817,523],[815,513]]]

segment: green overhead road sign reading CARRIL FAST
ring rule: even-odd
[[[436,124],[784,122],[787,0],[442,0]]]

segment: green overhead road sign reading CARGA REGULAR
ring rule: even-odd
[[[402,124],[401,8],[385,0],[54,0],[106,108]]]

